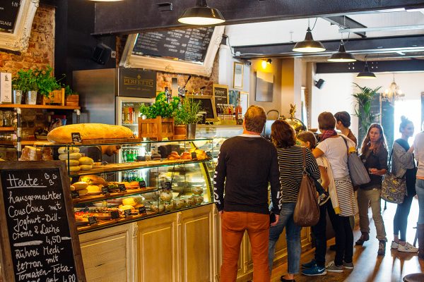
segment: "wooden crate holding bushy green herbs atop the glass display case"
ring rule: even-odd
[[[158,141],[163,138],[173,139],[174,118],[139,118],[139,138],[148,137]]]

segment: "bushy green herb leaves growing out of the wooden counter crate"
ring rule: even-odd
[[[168,103],[165,92],[160,92],[151,106],[140,107],[140,114],[145,115],[146,118],[156,118],[156,116],[172,118],[178,109],[178,104],[179,97],[172,97],[171,102]]]

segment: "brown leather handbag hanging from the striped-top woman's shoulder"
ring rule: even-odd
[[[303,147],[303,176],[300,183],[298,201],[293,212],[297,226],[314,226],[319,221],[319,205],[314,180],[306,171],[306,148]]]

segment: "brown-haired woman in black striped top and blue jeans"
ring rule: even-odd
[[[280,280],[295,281],[295,274],[300,269],[300,226],[293,221],[293,212],[303,174],[303,148],[295,145],[295,130],[285,121],[278,120],[271,125],[271,140],[277,148],[278,168],[280,171],[282,207],[280,219],[269,230],[269,269],[272,270],[273,258],[278,238],[285,228],[288,250],[288,274]],[[317,161],[306,149],[306,171],[315,180],[320,178]]]

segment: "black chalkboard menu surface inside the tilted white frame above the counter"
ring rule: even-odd
[[[139,33],[133,54],[203,63],[213,27]]]

